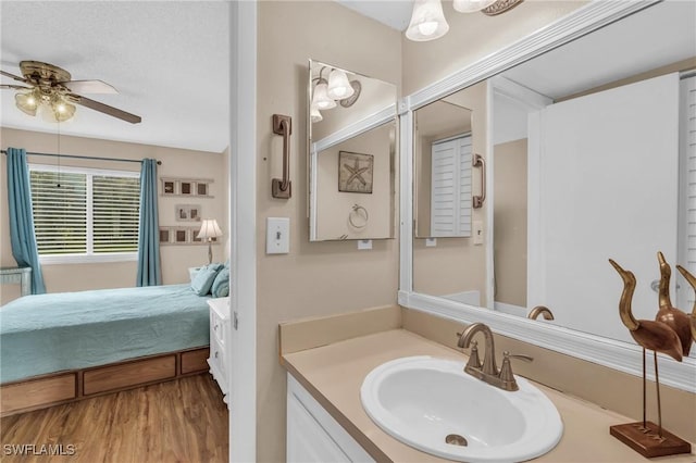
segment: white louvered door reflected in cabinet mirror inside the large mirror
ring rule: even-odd
[[[471,136],[432,145],[431,235],[471,236]]]

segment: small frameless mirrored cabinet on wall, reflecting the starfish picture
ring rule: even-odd
[[[310,60],[310,241],[395,234],[396,86]]]

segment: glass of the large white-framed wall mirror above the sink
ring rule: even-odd
[[[488,167],[488,197],[473,218],[484,239],[460,238],[468,254],[450,259],[452,243],[433,243],[417,226],[405,298],[413,306],[462,320],[476,317],[476,306],[519,338],[582,334],[632,349],[618,312],[623,283],[608,259],[636,275],[636,318],[658,310],[658,251],[672,268],[696,273],[696,3],[635,10],[452,95],[484,95],[482,107],[469,105],[474,153]],[[428,105],[412,116],[417,223],[431,189],[419,174],[420,112]],[[694,290],[678,272],[670,291],[673,305],[692,311]],[[537,305],[554,320],[527,318]],[[696,349],[675,368],[692,380],[674,384],[694,390]]]

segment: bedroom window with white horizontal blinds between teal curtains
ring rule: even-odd
[[[136,259],[140,174],[29,164],[41,262]]]

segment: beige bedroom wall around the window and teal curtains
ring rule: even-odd
[[[24,148],[33,152],[57,152],[54,134],[36,133],[2,128],[2,149],[8,147]],[[181,176],[211,178],[212,199],[202,198],[159,198],[159,220],[161,226],[196,226],[196,223],[176,222],[174,209],[176,204],[200,204],[203,216],[215,217],[223,228],[222,245],[227,239],[228,200],[225,190],[226,174],[223,170],[225,155],[204,151],[179,150],[147,145],[108,141],[95,138],[61,136],[61,152],[65,154],[92,155],[119,159],[139,160],[156,158],[162,161],[158,166],[158,176]],[[27,157],[28,162],[55,164],[57,158]],[[4,182],[7,179],[7,157],[0,161],[0,263],[2,266],[16,266],[12,256],[9,235],[8,197]],[[137,163],[83,161],[63,158],[63,166],[83,166],[92,168],[114,168],[139,171]],[[213,246],[213,260],[222,261],[224,246]],[[208,262],[208,251],[203,245],[197,246],[162,246],[162,279],[164,284],[188,281],[189,266],[198,266]],[[48,292],[78,291],[96,288],[119,288],[135,286],[137,262],[92,263],[92,264],[46,264],[42,265],[44,280]],[[18,296],[16,285],[3,285],[0,301],[7,303]]]

